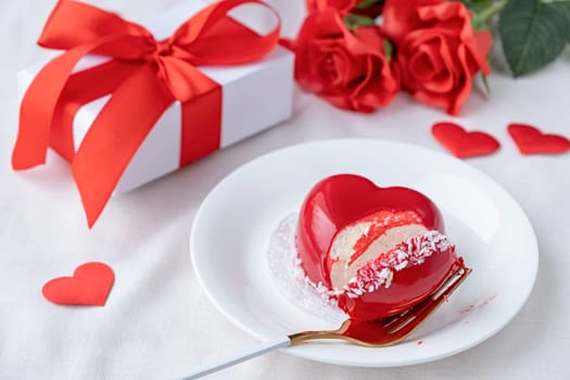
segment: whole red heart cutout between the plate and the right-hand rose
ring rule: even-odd
[[[435,123],[431,127],[433,137],[453,155],[459,159],[494,153],[501,143],[482,131],[466,131],[454,123]]]

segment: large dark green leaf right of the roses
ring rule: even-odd
[[[509,0],[499,13],[503,51],[515,77],[554,61],[562,51],[570,24],[567,1]]]

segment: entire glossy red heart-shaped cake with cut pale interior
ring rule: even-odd
[[[306,197],[296,249],[314,283],[352,319],[371,320],[409,308],[464,266],[443,233],[440,211],[420,192],[342,174]]]

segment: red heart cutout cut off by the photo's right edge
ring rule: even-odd
[[[570,140],[559,135],[546,135],[525,124],[510,124],[508,134],[522,154],[560,154],[570,150]]]

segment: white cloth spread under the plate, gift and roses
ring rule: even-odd
[[[92,3],[142,21],[181,0]],[[270,1],[292,35],[302,0]],[[54,1],[0,5],[0,379],[175,379],[192,367],[256,341],[231,325],[199,288],[188,252],[193,216],[207,192],[231,170],[277,148],[309,140],[370,137],[434,150],[438,121],[486,130],[503,144],[469,160],[520,202],[541,251],[535,288],[520,314],[496,335],[453,357],[418,366],[373,369],[313,363],[273,353],[211,379],[569,379],[570,154],[521,156],[506,125],[534,124],[570,136],[570,51],[547,69],[514,80],[490,77],[492,94],[473,91],[460,118],[402,93],[373,115],[343,112],[296,91],[293,117],[246,141],[114,198],[92,230],[86,227],[68,166],[14,173],[18,68],[48,56],[35,46]],[[116,281],[105,307],[53,305],[42,284],[79,264],[101,261]],[[514,263],[517,265],[517,263]]]

